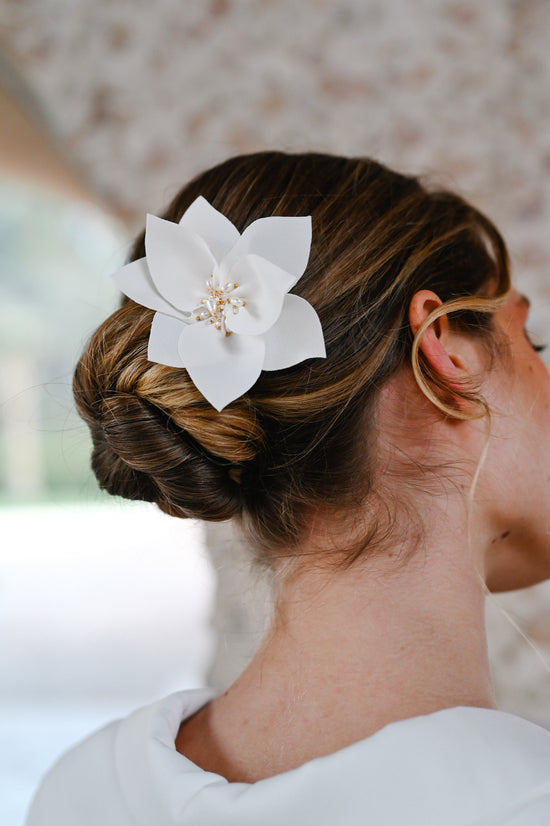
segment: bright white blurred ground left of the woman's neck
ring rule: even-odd
[[[72,743],[203,684],[214,574],[202,526],[153,506],[3,508],[0,536],[0,823],[20,826]]]

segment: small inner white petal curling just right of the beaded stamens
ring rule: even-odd
[[[258,255],[241,258],[231,269],[230,281],[238,284],[231,296],[246,302],[236,315],[227,314],[227,329],[239,335],[257,336],[275,324],[292,276]]]

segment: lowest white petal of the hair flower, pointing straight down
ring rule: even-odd
[[[225,336],[213,324],[185,327],[179,351],[195,386],[216,410],[250,390],[264,362],[260,336]]]

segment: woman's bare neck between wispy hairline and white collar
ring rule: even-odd
[[[296,577],[248,668],[182,726],[178,749],[253,782],[397,720],[494,707],[482,581],[453,544]]]

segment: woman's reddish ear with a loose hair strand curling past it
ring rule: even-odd
[[[420,334],[418,347],[431,370],[451,391],[463,391],[468,379],[479,374],[482,355],[478,342],[453,329],[446,313],[442,312],[428,322],[434,311],[442,306],[436,293],[419,290],[409,306],[409,324],[413,336]]]

